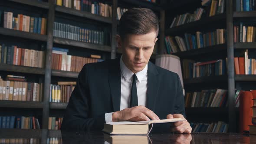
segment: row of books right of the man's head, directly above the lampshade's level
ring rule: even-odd
[[[184,52],[190,49],[199,49],[207,46],[223,44],[226,40],[225,36],[225,29],[217,29],[210,33],[196,32],[196,35],[185,33],[185,39],[180,36],[166,36],[164,41],[167,54],[171,54],[175,52]]]

